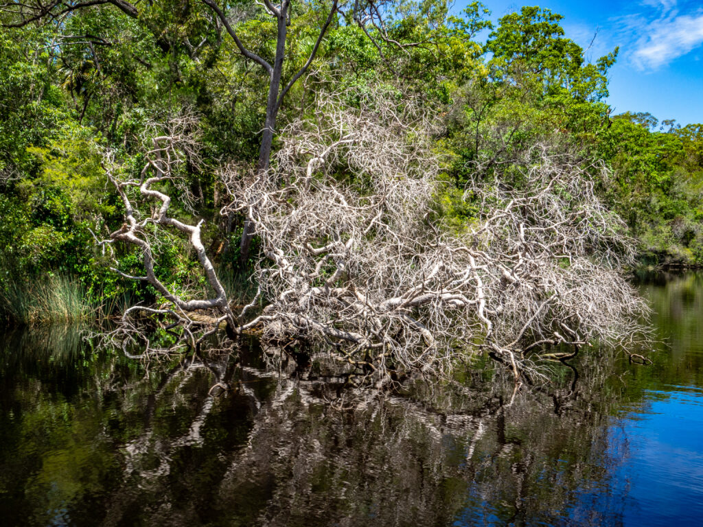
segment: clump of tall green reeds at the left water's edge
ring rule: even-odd
[[[80,280],[63,275],[6,282],[0,289],[0,313],[16,324],[86,320],[95,318],[100,306]]]

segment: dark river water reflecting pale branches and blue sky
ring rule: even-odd
[[[6,334],[0,524],[700,525],[703,275],[642,290],[652,365],[583,356],[512,404],[491,364],[380,394],[256,349],[144,364]]]

